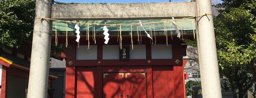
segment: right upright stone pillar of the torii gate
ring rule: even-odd
[[[211,0],[196,0],[197,15],[212,14]],[[203,98],[222,98],[212,15],[196,18]]]

